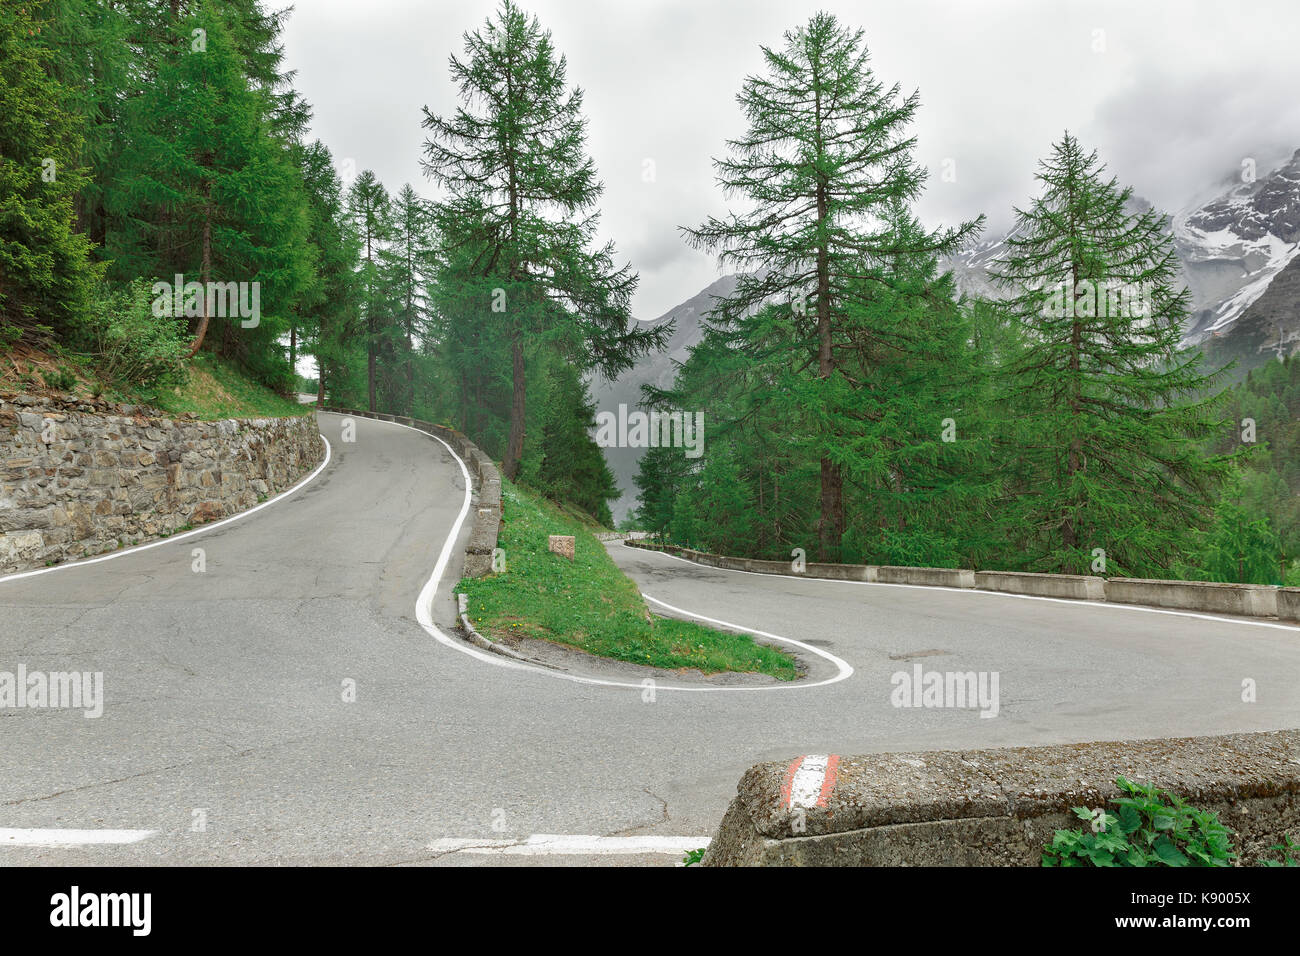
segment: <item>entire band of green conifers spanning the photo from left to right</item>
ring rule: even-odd
[[[286,16],[0,0],[0,350],[172,408],[196,363],[290,397],[309,356],[321,401],[460,428],[608,523],[588,381],[666,382],[673,326],[633,320],[598,238],[551,34],[506,0],[448,38],[416,187],[309,137]],[[638,523],[758,557],[1300,581],[1297,363],[1232,385],[1184,347],[1167,217],[1063,133],[982,261],[997,297],[963,295],[942,264],[983,222],[922,224],[919,95],[828,14],[762,52],[716,144],[734,206],[684,228],[736,280],[645,397],[702,414],[702,454],[646,449]]]

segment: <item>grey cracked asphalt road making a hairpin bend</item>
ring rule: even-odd
[[[0,579],[0,671],[104,687],[94,719],[0,709],[0,865],[672,864],[763,760],[1300,726],[1300,628],[619,544],[649,597],[845,663],[796,649],[801,684],[659,675],[653,695],[625,666],[521,667],[452,636],[456,459],[399,425],[360,419],[343,442],[320,420],[329,464],[255,514]],[[915,665],[997,672],[997,715],[893,706]]]

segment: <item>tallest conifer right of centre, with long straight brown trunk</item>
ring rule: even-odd
[[[807,356],[816,388],[806,389],[820,462],[819,553],[837,561],[845,531],[842,451],[850,393],[846,354],[858,349],[850,307],[888,285],[887,254],[953,251],[978,222],[922,233],[900,248],[883,221],[894,202],[911,202],[926,178],[906,135],[919,99],[885,88],[867,65],[861,30],[819,13],[785,34],[785,47],[763,47],[766,73],[749,77],[737,96],[749,120],[744,137],[715,160],[720,185],[749,211],[686,229],[689,241],[715,251],[742,274],[714,312],[736,324],[754,310],[784,303],[788,347]]]

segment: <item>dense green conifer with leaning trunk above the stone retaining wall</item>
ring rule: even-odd
[[[282,385],[289,371],[277,339],[313,268],[308,211],[292,155],[272,129],[276,100],[244,73],[246,25],[231,27],[229,13],[216,0],[179,10],[152,82],[122,108],[127,146],[107,198],[108,252],[121,280],[256,284],[256,324],[228,316],[217,346]],[[211,297],[200,298],[191,354],[213,319]]]

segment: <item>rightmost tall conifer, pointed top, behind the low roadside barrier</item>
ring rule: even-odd
[[[1087,572],[1104,551],[1112,574],[1167,574],[1232,467],[1202,451],[1222,395],[1180,347],[1188,293],[1165,217],[1104,170],[1067,133],[994,267],[1026,330],[1005,516],[1030,567]]]

